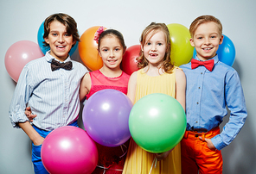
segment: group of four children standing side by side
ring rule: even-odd
[[[151,93],[173,96],[186,111],[188,123],[181,143],[168,152],[146,152],[132,138],[126,156],[120,147],[97,144],[99,164],[93,173],[222,173],[221,149],[244,125],[246,105],[238,73],[221,63],[216,54],[223,40],[221,22],[214,16],[200,16],[191,23],[190,43],[196,57],[181,67],[171,64],[166,25],[150,23],[140,38],[139,70],[131,77],[120,69],[126,48],[123,35],[114,29],[99,31],[103,67],[88,72],[68,55],[80,40],[74,19],[66,14],[49,16],[43,38],[50,51],[22,70],[10,103],[10,120],[33,142],[35,173],[48,173],[40,154],[47,134],[57,127],[78,127],[80,101],[104,89],[119,90],[132,103]],[[27,106],[30,108],[24,113]],[[226,106],[230,119],[221,132]],[[33,119],[32,126],[28,117]],[[153,166],[154,158],[157,164]]]

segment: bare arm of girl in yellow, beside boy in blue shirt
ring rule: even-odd
[[[181,69],[176,69],[176,100],[186,110],[186,75]]]

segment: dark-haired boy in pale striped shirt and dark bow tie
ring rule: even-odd
[[[48,173],[42,165],[44,138],[55,128],[78,126],[80,80],[86,67],[70,59],[70,49],[79,41],[77,24],[71,16],[54,14],[44,22],[44,46],[50,51],[24,66],[10,103],[10,121],[21,127],[32,140],[32,162],[35,173]],[[32,125],[24,114],[29,105]]]

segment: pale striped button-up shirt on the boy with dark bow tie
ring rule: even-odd
[[[80,112],[80,80],[87,72],[86,67],[68,57],[73,68],[68,71],[51,70],[54,59],[49,53],[42,58],[30,61],[24,66],[16,84],[10,103],[10,121],[29,121],[24,114],[27,104],[34,115],[36,127],[51,131],[76,121]],[[55,59],[57,60],[57,59]]]

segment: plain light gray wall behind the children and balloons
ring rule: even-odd
[[[44,19],[63,12],[73,16],[80,35],[87,28],[103,25],[116,28],[125,36],[127,47],[138,44],[142,30],[150,22],[180,23],[189,28],[190,23],[202,15],[213,15],[223,24],[226,34],[236,48],[233,67],[239,72],[246,97],[248,118],[237,138],[223,149],[223,173],[256,173],[255,139],[255,16],[256,1],[240,0],[9,0],[0,3],[0,173],[33,173],[30,161],[31,142],[22,130],[10,124],[8,109],[16,83],[4,66],[8,48],[19,40],[37,43],[38,28]],[[78,49],[72,59],[80,60]],[[254,107],[253,107],[254,106]],[[228,120],[225,119],[224,123]],[[221,125],[222,127],[222,125]]]

